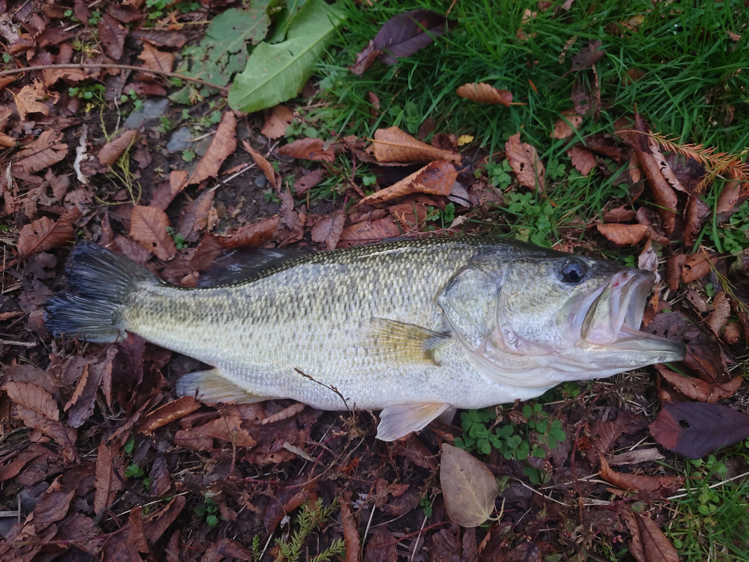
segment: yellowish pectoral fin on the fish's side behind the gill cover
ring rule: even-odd
[[[423,326],[387,318],[370,318],[362,330],[361,341],[370,354],[398,363],[434,363],[432,350],[449,339],[449,334]]]

